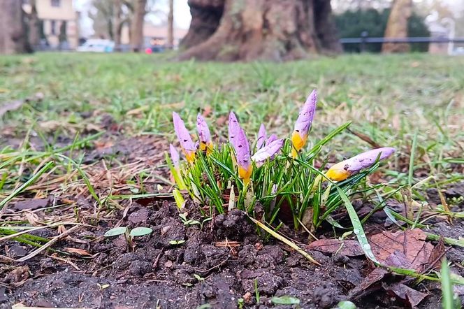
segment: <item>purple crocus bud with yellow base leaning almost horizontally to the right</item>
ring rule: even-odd
[[[393,152],[395,152],[395,148],[391,147],[377,148],[363,152],[345,161],[334,164],[328,169],[326,176],[331,180],[345,180],[362,169],[372,166],[375,160],[377,160],[377,157],[379,160],[383,160],[390,157]]]

